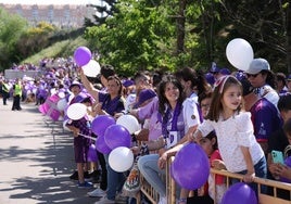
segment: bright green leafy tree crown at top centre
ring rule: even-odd
[[[118,1],[115,7],[119,12],[85,33],[92,49],[102,54],[101,60],[127,75],[169,66],[168,38],[175,27],[167,22],[163,8],[147,0]]]

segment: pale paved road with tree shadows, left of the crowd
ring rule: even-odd
[[[75,169],[73,136],[45,122],[35,104],[11,111],[0,103],[0,203],[94,203],[93,189],[68,179]]]

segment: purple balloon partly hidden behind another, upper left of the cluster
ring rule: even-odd
[[[116,122],[110,115],[100,115],[97,116],[91,124],[91,129],[97,136],[104,136],[105,130],[107,127],[114,125]]]

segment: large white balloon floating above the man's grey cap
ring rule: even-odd
[[[236,38],[226,47],[227,60],[238,69],[246,71],[254,59],[252,46],[242,38]]]

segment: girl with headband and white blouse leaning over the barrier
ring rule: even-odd
[[[215,130],[218,150],[227,170],[242,174],[243,181],[253,190],[254,177],[266,178],[266,158],[253,133],[251,113],[242,112],[242,86],[233,76],[215,82],[208,114],[189,141],[200,141]],[[265,188],[261,189],[265,192]]]

